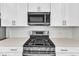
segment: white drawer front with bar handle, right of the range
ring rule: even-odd
[[[79,52],[78,47],[56,47],[56,52]]]

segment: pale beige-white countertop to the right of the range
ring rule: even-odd
[[[52,38],[56,47],[79,47],[79,39]]]

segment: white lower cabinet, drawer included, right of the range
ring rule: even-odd
[[[79,56],[79,47],[57,47],[56,56]]]

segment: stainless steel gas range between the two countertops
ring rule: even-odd
[[[32,31],[23,45],[23,56],[55,56],[55,45],[49,39],[48,31]]]

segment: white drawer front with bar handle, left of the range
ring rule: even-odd
[[[22,52],[22,47],[2,47],[2,52]]]

